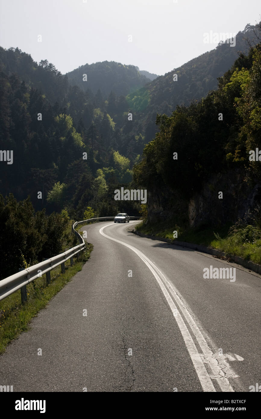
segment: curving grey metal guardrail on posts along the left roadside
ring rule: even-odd
[[[140,219],[140,217],[129,217],[132,219]],[[26,285],[30,284],[30,282],[34,281],[39,277],[42,277],[44,274],[46,275],[47,284],[51,281],[50,271],[57,266],[61,265],[62,273],[65,272],[65,262],[70,259],[71,266],[73,265],[73,256],[79,256],[79,252],[85,248],[85,241],[83,237],[75,230],[75,227],[78,224],[83,224],[84,222],[91,222],[91,221],[106,221],[112,220],[114,217],[99,217],[99,218],[90,218],[89,220],[83,221],[76,221],[72,225],[72,232],[75,233],[75,236],[78,238],[80,244],[78,246],[72,247],[71,249],[65,251],[64,253],[60,253],[57,256],[52,258],[46,259],[43,262],[40,262],[36,265],[30,266],[26,269],[20,269],[17,274],[13,274],[10,277],[2,279],[0,281],[0,301],[4,298],[8,297],[8,295],[13,294],[17,290],[21,290],[21,300],[22,303],[27,301],[27,292],[26,292]]]

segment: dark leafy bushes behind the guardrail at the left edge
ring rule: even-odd
[[[35,212],[29,197],[17,202],[13,194],[0,195],[0,279],[59,254],[68,222],[66,211],[47,215]]]

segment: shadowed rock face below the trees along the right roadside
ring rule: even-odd
[[[219,199],[219,192],[223,198]],[[261,205],[261,185],[251,184],[245,173],[240,170],[218,173],[204,182],[200,193],[189,202],[181,199],[180,194],[168,189],[155,188],[148,195],[148,222],[180,220],[191,227],[201,224],[220,225],[236,222]],[[152,198],[153,197],[153,198]]]

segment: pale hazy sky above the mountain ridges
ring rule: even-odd
[[[260,15],[260,0],[0,0],[0,46],[62,73],[108,60],[161,75],[214,49],[204,32],[236,34]]]

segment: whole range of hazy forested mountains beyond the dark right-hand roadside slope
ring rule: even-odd
[[[207,94],[236,51],[248,49],[244,36],[252,38],[253,28],[237,35],[236,47],[222,44],[177,69],[176,82],[170,72],[145,84],[136,67],[102,62],[68,74],[81,75],[84,88],[47,60],[37,64],[18,48],[0,48],[1,149],[13,150],[13,164],[0,165],[0,193],[29,194],[36,209],[66,207],[76,218],[87,205],[99,215],[132,212],[137,206],[118,207],[113,191],[132,181],[134,163],[155,137],[157,113],[168,115],[181,98]],[[137,85],[143,87],[129,93]]]

